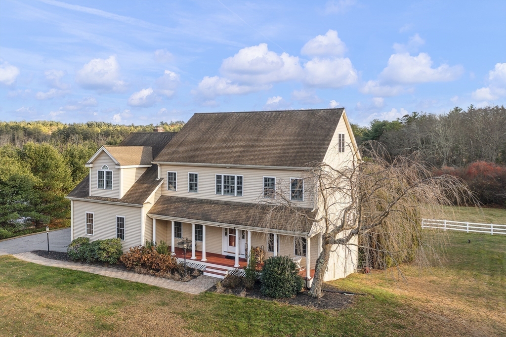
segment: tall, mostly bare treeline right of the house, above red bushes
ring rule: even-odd
[[[418,153],[438,168],[475,161],[506,164],[504,106],[456,107],[441,115],[412,112],[394,121],[375,119],[368,127],[352,127],[359,143],[381,142],[391,156]]]

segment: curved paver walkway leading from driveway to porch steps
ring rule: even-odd
[[[198,294],[202,291],[205,291],[209,289],[210,287],[214,286],[216,282],[219,281],[216,277],[210,277],[205,275],[200,275],[197,278],[194,278],[191,281],[188,282],[181,282],[181,281],[174,281],[166,278],[161,277],[154,277],[150,275],[142,275],[132,272],[126,272],[121,271],[113,268],[107,268],[107,267],[99,267],[99,266],[91,266],[81,263],[75,263],[75,262],[64,262],[64,261],[58,261],[58,260],[52,260],[52,259],[46,259],[43,257],[40,257],[38,255],[32,254],[31,252],[22,252],[18,254],[13,254],[14,257],[27,261],[27,262],[33,262],[38,265],[43,266],[50,266],[50,267],[59,267],[59,268],[67,268],[67,269],[73,269],[73,270],[79,270],[84,271],[92,274],[98,274],[108,277],[115,277],[115,278],[121,278],[123,280],[128,280],[132,282],[140,282],[140,283],[146,283],[150,285],[155,285],[157,287],[161,288],[167,288],[182,292],[188,292],[191,294]]]

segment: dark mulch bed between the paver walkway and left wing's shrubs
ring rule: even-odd
[[[107,267],[107,268],[113,268],[121,271],[127,271],[131,273],[138,273],[138,274],[144,274],[144,275],[152,275],[155,277],[162,277],[167,278],[175,281],[181,281],[181,282],[188,282],[202,274],[202,272],[198,269],[186,268],[186,273],[183,272],[183,267],[178,268],[180,270],[173,271],[172,273],[163,273],[163,272],[156,272],[153,270],[150,270],[148,268],[143,267],[135,267],[132,269],[127,269],[124,264],[122,263],[116,263],[116,264],[110,264],[107,262],[85,262],[85,261],[75,261],[69,258],[68,254],[63,251],[50,251],[48,254],[47,250],[33,250],[31,251],[32,254],[38,255],[40,257],[46,258],[46,259],[52,259],[52,260],[58,260],[58,261],[65,261],[65,262],[73,262],[73,263],[80,263],[83,265],[91,265],[91,266],[98,266],[98,267]],[[179,275],[179,276],[176,276]],[[187,276],[188,275],[188,276]]]

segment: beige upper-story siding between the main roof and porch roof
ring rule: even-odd
[[[167,190],[167,172],[177,172],[177,191]],[[198,193],[188,192],[188,173],[198,173]],[[217,195],[217,174],[242,175],[243,196]],[[289,196],[290,178],[309,178],[304,171],[184,165],[161,165],[161,176],[165,179],[162,186],[163,195],[237,202],[258,202],[263,200],[263,177],[276,177],[276,189],[281,190],[287,196]],[[304,201],[296,201],[301,207],[313,208],[313,186],[311,179],[304,181]]]

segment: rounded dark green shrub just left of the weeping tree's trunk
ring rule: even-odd
[[[287,256],[267,259],[262,268],[260,282],[262,293],[275,299],[296,296],[304,284],[297,265]]]

